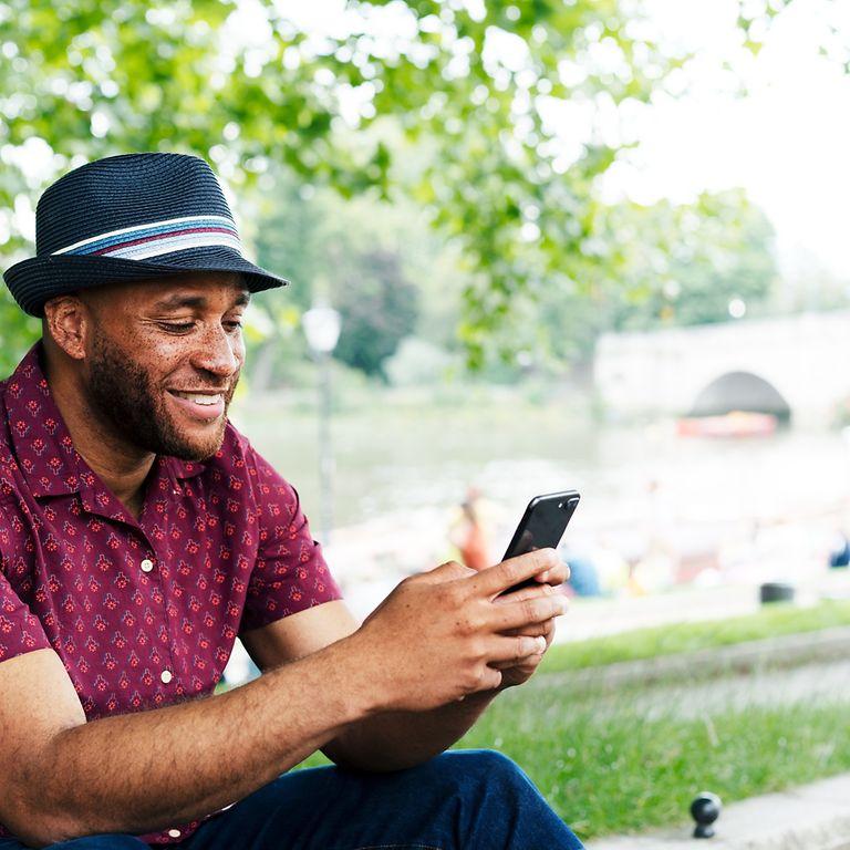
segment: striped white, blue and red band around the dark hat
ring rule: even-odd
[[[186,248],[224,246],[242,253],[234,221],[225,216],[182,216],[124,227],[83,239],[53,255],[120,257],[144,260]]]

